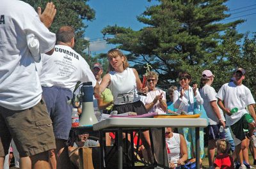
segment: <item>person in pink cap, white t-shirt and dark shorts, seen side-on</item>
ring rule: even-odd
[[[200,95],[204,99],[204,110],[207,114],[209,125],[207,126],[208,141],[208,161],[209,166],[214,168],[214,154],[216,140],[225,138],[225,117],[222,110],[217,105],[216,91],[211,87],[214,80],[214,75],[210,70],[202,72],[201,84],[204,85],[200,90]],[[223,131],[220,132],[220,126],[223,126]]]

